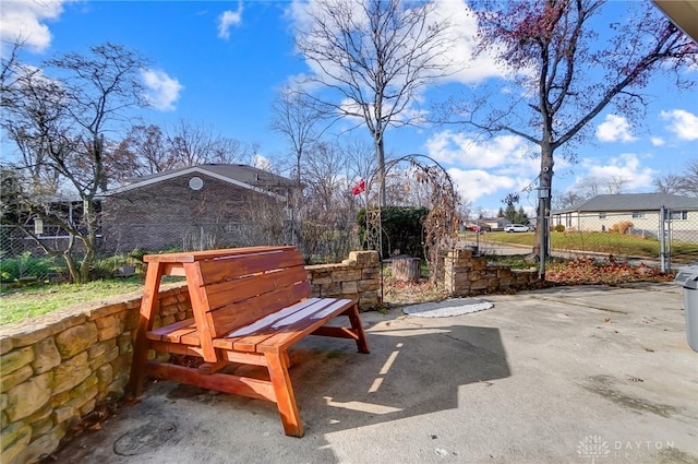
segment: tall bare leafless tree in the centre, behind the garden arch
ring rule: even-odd
[[[448,72],[449,24],[436,21],[434,2],[316,0],[296,45],[317,72],[306,88],[320,112],[353,118],[371,133],[385,204],[385,141],[388,127],[414,122],[410,105],[423,86]]]

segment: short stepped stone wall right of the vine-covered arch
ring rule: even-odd
[[[468,296],[522,288],[538,282],[537,270],[513,270],[488,264],[471,250],[453,250],[444,258],[444,285],[453,296]]]

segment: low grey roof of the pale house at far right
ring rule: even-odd
[[[659,211],[662,206],[669,210],[698,210],[698,198],[671,193],[597,195],[567,209],[554,211],[553,214],[585,211]]]

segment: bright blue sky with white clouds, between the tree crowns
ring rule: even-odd
[[[440,14],[462,31],[473,20],[464,0],[438,0]],[[106,40],[140,51],[151,60],[144,82],[153,107],[146,121],[161,127],[180,119],[213,128],[221,135],[257,143],[272,160],[286,153],[284,139],[269,130],[270,105],[280,87],[311,72],[293,52],[293,26],[301,21],[300,1],[13,1],[0,5],[2,38],[22,31],[29,49],[25,59],[85,51]],[[623,2],[612,4],[618,12]],[[619,13],[618,13],[619,14]],[[459,44],[454,56],[468,57],[472,44]],[[486,59],[426,88],[422,108],[452,90],[474,90],[501,72]],[[698,80],[698,70],[689,76]],[[554,189],[574,188],[589,176],[622,177],[625,192],[652,191],[653,178],[681,174],[698,158],[698,88],[678,93],[662,78],[646,91],[652,104],[639,128],[612,111],[591,124],[590,138],[577,147],[578,163],[557,158]],[[502,92],[502,98],[506,93]],[[365,139],[357,129],[345,138]],[[400,128],[386,134],[389,153],[421,153],[442,163],[474,207],[496,210],[501,200],[535,179],[539,160],[520,138],[484,140],[460,127]],[[534,206],[534,198],[521,204]]]

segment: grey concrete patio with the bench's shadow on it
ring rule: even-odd
[[[698,354],[679,286],[478,298],[494,307],[363,313],[370,355],[298,345],[302,439],[284,436],[272,403],[159,382],[55,462],[698,462]]]

